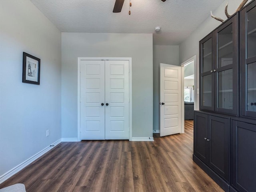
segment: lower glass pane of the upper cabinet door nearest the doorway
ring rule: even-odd
[[[212,106],[212,74],[202,77],[202,106]]]

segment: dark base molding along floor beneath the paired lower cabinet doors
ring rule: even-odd
[[[229,184],[212,171],[204,162],[193,154],[193,161],[202,169],[210,178],[212,178],[225,192],[229,192]],[[236,192],[236,191],[233,191]]]

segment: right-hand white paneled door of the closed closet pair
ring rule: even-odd
[[[129,139],[129,61],[105,61],[105,139]]]

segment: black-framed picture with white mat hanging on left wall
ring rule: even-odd
[[[22,82],[40,84],[40,59],[23,52]]]

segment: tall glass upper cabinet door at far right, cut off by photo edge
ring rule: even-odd
[[[241,115],[256,118],[256,2],[241,11]]]

